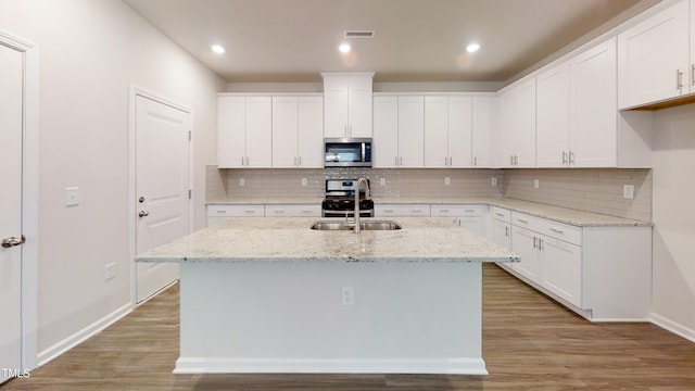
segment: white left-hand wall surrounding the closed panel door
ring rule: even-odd
[[[195,228],[226,85],[119,0],[0,0],[0,29],[39,51],[41,352],[130,300],[129,84],[193,112]],[[80,188],[79,206],[64,206],[67,186]]]

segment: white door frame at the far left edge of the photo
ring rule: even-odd
[[[24,54],[22,135],[22,366],[38,365],[39,58],[38,47],[0,30],[0,43]]]

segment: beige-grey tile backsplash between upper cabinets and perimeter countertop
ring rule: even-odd
[[[508,197],[556,206],[652,220],[652,171],[617,168],[242,168],[207,167],[208,201],[225,198],[321,198],[329,178],[366,177],[374,197]],[[497,186],[492,186],[492,178]],[[444,185],[448,178],[450,185]],[[240,182],[243,179],[243,186]],[[306,179],[306,185],[302,185]],[[381,186],[381,179],[384,185]],[[539,187],[534,187],[538,179]],[[623,198],[634,186],[634,199]]]

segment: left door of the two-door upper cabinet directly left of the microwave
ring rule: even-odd
[[[273,97],[273,167],[296,167],[296,97]]]

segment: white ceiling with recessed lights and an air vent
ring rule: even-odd
[[[508,81],[659,0],[124,1],[227,81],[277,83],[320,81],[323,71],[374,71],[375,81]],[[345,55],[345,29],[376,35],[351,39]],[[464,50],[471,41],[481,45],[472,55]],[[213,54],[212,43],[226,53]]]

